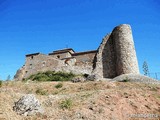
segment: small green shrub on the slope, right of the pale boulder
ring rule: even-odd
[[[60,102],[60,108],[62,109],[70,109],[73,105],[73,102],[71,99],[65,99]]]

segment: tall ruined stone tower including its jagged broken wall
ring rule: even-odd
[[[138,62],[130,25],[115,27],[105,36],[95,57],[93,74],[114,78],[121,74],[138,74]]]

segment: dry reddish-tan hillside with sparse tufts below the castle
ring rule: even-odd
[[[14,103],[34,94],[43,114],[18,115]],[[160,85],[136,82],[3,82],[0,120],[160,119]]]

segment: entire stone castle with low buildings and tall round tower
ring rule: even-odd
[[[114,78],[121,74],[139,74],[138,62],[130,25],[122,24],[102,39],[97,50],[75,52],[72,48],[57,50],[48,55],[26,55],[26,62],[16,80],[44,71],[65,71]]]

